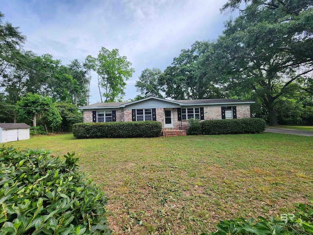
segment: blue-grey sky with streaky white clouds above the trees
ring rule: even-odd
[[[173,62],[195,41],[215,40],[230,14],[221,14],[226,0],[0,0],[4,20],[27,37],[24,49],[49,53],[68,64],[97,56],[101,47],[119,49],[135,72],[124,99],[134,98],[141,71]],[[90,103],[100,101],[91,82]]]

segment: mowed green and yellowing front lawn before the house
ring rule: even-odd
[[[107,193],[113,234],[201,234],[234,217],[268,218],[313,198],[313,138],[262,133],[7,143],[75,152]]]

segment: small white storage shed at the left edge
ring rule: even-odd
[[[28,140],[29,128],[25,123],[0,123],[0,143]]]

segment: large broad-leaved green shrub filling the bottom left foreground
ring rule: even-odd
[[[0,147],[1,235],[110,234],[103,192],[45,150]]]

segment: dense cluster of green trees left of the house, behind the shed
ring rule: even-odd
[[[50,54],[23,50],[25,36],[18,27],[3,23],[3,18],[0,13],[0,122],[18,120],[44,125],[46,131],[70,130],[82,120],[72,105],[89,102],[88,68],[77,59],[62,65]],[[56,109],[55,102],[62,108]]]

